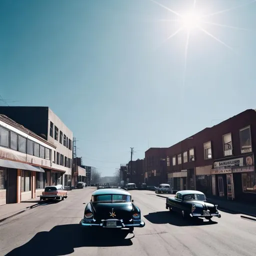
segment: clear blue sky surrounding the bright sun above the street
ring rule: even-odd
[[[157,0],[183,13],[193,0]],[[212,13],[250,0],[196,0]],[[256,108],[256,2],[181,31],[150,0],[1,0],[0,95],[49,106],[73,131],[77,155],[111,175],[150,147],[170,146]],[[3,102],[0,102],[3,105]]]

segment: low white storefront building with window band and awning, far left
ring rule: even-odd
[[[0,114],[0,205],[35,198],[59,182],[56,146]]]

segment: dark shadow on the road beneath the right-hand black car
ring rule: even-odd
[[[157,211],[149,212],[144,217],[153,224],[170,224],[175,226],[199,226],[199,225],[212,225],[217,224],[213,220],[204,220],[203,218],[185,218],[176,212],[170,211]]]

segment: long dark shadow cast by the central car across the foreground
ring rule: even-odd
[[[126,238],[128,236],[128,238]],[[82,227],[80,224],[56,225],[49,231],[35,234],[27,243],[5,256],[57,256],[74,252],[78,247],[110,247],[132,245],[134,234],[125,229]]]

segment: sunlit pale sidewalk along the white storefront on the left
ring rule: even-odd
[[[20,203],[9,203],[0,205],[0,222],[3,220],[22,213],[25,210],[30,209],[32,206],[38,203],[38,197],[22,201]]]

